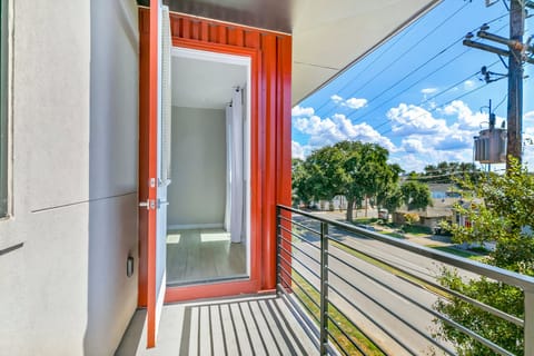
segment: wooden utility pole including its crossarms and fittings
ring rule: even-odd
[[[476,33],[478,38],[494,41],[500,44],[505,44],[507,46],[507,49],[475,42],[472,40],[474,36],[471,32],[466,34],[463,42],[465,46],[496,53],[501,59],[502,57],[508,57],[506,170],[510,168],[510,157],[516,158],[520,162],[522,159],[523,63],[534,63],[534,58],[526,56],[527,52],[533,52],[533,47],[531,47],[530,43],[523,43],[523,34],[525,29],[525,1],[510,0],[510,39],[487,32],[490,27],[486,23],[484,23],[481,27],[481,30]],[[530,2],[528,6],[531,7]],[[485,67],[483,67],[483,71]],[[486,82],[494,81],[490,80],[488,78],[490,77],[486,75]]]

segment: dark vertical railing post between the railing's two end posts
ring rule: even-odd
[[[328,224],[320,222],[320,355],[327,355],[328,346]]]

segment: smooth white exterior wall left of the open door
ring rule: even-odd
[[[136,2],[11,1],[0,353],[110,355],[137,305]]]

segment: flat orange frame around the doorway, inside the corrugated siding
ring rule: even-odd
[[[250,219],[249,219],[249,278],[239,280],[214,281],[209,284],[198,284],[190,286],[174,286],[167,287],[165,294],[165,303],[191,300],[198,298],[211,298],[231,296],[238,294],[257,293],[261,286],[260,266],[261,266],[261,195],[254,194],[261,191],[261,176],[260,171],[260,142],[259,127],[263,120],[258,120],[259,113],[259,97],[258,88],[260,88],[259,69],[261,68],[261,53],[257,49],[238,48],[219,43],[205,43],[191,40],[172,38],[172,48],[184,48],[191,50],[199,50],[205,52],[212,52],[218,55],[231,55],[238,57],[247,57],[250,60],[250,78],[248,88],[250,92],[249,119],[250,119]],[[171,50],[172,52],[172,50]]]

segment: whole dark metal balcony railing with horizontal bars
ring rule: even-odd
[[[276,216],[277,287],[307,323],[320,355],[419,355],[423,350],[414,346],[415,339],[426,344],[427,350],[454,355],[454,345],[436,339],[435,332],[429,329],[433,319],[475,339],[497,355],[513,355],[433,307],[438,299],[455,297],[523,328],[524,355],[534,356],[533,277],[286,206],[277,206]],[[384,243],[379,244],[380,248],[407,255],[394,258],[390,251],[384,253],[368,241]],[[510,315],[443,286],[436,275],[414,267],[424,260],[459,268],[468,278],[483,276],[521,288],[524,316]],[[386,273],[396,278],[387,278]],[[402,285],[397,286],[397,283]],[[387,297],[379,299],[378,291]],[[419,323],[419,314],[406,312],[414,308],[419,310],[423,319],[426,318],[423,323]],[[379,313],[374,314],[374,310]]]

